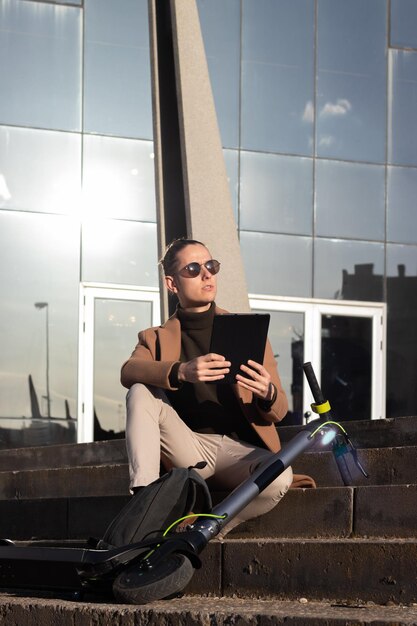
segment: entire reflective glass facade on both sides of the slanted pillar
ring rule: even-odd
[[[415,414],[415,1],[197,6],[250,292],[387,302]],[[76,436],[80,282],[158,286],[147,0],[0,0],[0,54],[5,447]]]

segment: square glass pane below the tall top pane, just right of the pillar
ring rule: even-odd
[[[311,235],[313,161],[241,152],[240,226]]]

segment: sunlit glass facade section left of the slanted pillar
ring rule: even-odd
[[[0,0],[0,447],[77,439],[80,282],[158,286],[148,31]]]

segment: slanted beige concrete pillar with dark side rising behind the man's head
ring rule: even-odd
[[[249,311],[195,0],[149,0],[159,251],[179,236],[222,263],[217,302]],[[161,291],[162,293],[162,291]],[[168,314],[163,298],[162,319]]]

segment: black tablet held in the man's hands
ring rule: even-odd
[[[215,383],[235,383],[236,374],[248,359],[263,363],[269,327],[268,313],[227,313],[215,315],[210,352],[221,354],[232,363],[230,372]]]

